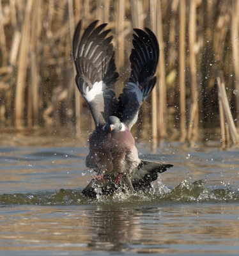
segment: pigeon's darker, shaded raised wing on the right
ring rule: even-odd
[[[144,29],[134,29],[134,48],[130,54],[131,74],[123,93],[119,95],[119,116],[128,129],[137,121],[139,108],[156,83],[158,40],[150,29]]]

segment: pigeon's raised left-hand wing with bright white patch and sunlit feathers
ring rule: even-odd
[[[77,70],[75,82],[88,102],[96,126],[104,125],[107,118],[116,112],[117,99],[109,87],[119,76],[114,62],[112,36],[107,36],[111,29],[102,31],[107,24],[96,27],[97,22],[91,23],[81,36],[80,21],[73,36],[73,58]]]

